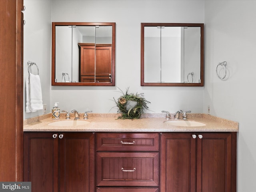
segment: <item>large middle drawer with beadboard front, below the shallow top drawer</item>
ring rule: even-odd
[[[158,152],[98,152],[97,186],[158,186]]]

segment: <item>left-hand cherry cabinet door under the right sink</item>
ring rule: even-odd
[[[161,192],[195,192],[196,138],[190,133],[162,133],[160,168]]]

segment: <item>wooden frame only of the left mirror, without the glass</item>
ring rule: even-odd
[[[55,26],[112,26],[112,82],[55,82]],[[115,86],[116,82],[116,23],[52,22],[52,85],[53,86]]]

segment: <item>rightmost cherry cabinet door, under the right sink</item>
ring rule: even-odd
[[[236,140],[236,135],[234,135],[234,137]],[[232,170],[231,167],[232,163],[234,163],[232,162],[232,148],[236,148],[236,146],[232,146],[231,133],[198,134],[198,192],[235,191],[231,189],[233,178],[232,174],[234,175],[232,172],[236,172],[236,169]]]

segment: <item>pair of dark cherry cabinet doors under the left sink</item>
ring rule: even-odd
[[[24,133],[24,181],[32,192],[94,192],[94,134]]]

